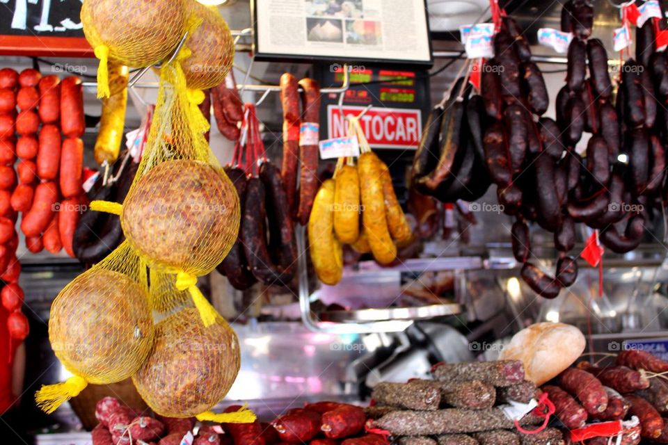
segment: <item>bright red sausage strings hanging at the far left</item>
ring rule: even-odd
[[[80,137],[86,129],[82,94],[81,80],[75,76],[61,81],[32,69],[21,74],[0,70],[0,278],[9,284],[2,302],[11,313],[10,332],[17,339],[28,334],[28,322],[20,312],[23,291],[17,284],[21,265],[14,226],[19,213],[31,252],[58,253],[65,248],[74,256],[74,227],[81,206],[87,204],[81,188]]]

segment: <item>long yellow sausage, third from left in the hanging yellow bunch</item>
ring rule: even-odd
[[[369,237],[369,246],[380,264],[389,264],[397,257],[397,246],[388,230],[385,216],[385,197],[381,181],[381,160],[373,152],[366,152],[358,161],[360,194],[362,196],[362,223]]]

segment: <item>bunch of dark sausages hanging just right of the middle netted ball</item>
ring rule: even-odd
[[[257,177],[243,169],[225,167],[241,202],[237,241],[216,268],[234,289],[262,282],[287,285],[296,269],[296,240],[283,177],[276,165],[265,161]]]

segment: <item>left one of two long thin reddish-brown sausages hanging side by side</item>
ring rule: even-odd
[[[283,105],[283,175],[290,214],[294,213],[299,167],[299,85],[292,74],[280,76],[280,103]]]

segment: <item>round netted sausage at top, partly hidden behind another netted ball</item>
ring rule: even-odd
[[[215,7],[187,0],[190,20],[199,26],[189,34],[186,47],[191,56],[181,63],[188,88],[206,90],[223,81],[234,60],[234,42],[227,22]]]

